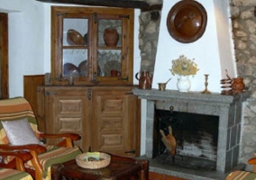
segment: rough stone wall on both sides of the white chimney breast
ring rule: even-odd
[[[161,0],[145,0],[160,4]],[[233,40],[238,76],[251,90],[251,98],[243,108],[242,149],[240,161],[247,163],[256,151],[256,1],[230,0],[233,22]],[[158,46],[160,12],[140,14],[141,70],[153,72]],[[251,167],[250,167],[251,168]]]

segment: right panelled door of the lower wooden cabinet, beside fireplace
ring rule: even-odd
[[[93,93],[93,150],[134,157],[137,98],[123,90],[96,90]]]

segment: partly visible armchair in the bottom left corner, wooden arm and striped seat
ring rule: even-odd
[[[13,160],[14,163],[6,165],[4,161],[0,162],[0,179],[32,180],[32,175],[24,172],[24,162],[32,158],[30,153],[25,151],[0,152],[0,156],[15,157]]]

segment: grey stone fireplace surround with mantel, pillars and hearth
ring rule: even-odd
[[[149,159],[153,157],[153,130],[155,109],[167,110],[173,108],[176,112],[189,112],[205,115],[213,115],[218,117],[218,138],[217,138],[217,156],[216,156],[216,172],[226,173],[239,164],[239,150],[241,139],[241,122],[242,122],[242,103],[250,96],[249,91],[242,94],[221,95],[221,94],[200,94],[198,92],[179,93],[174,90],[159,91],[157,89],[141,90],[133,89],[141,99],[146,99],[146,142],[145,156]],[[151,164],[151,166],[153,166]],[[175,168],[165,169],[164,167],[154,166],[154,170],[163,174],[177,175],[173,171]],[[163,170],[165,169],[165,170]],[[152,170],[152,169],[151,169]],[[185,174],[177,176],[195,179],[195,171],[189,173],[189,169]],[[204,173],[201,173],[203,175]],[[211,173],[206,173],[213,179],[222,179],[220,176],[215,178]],[[203,175],[204,176],[204,175]],[[200,179],[200,178],[197,178]],[[204,178],[202,178],[204,179]]]

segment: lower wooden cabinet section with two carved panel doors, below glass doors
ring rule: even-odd
[[[141,105],[132,89],[130,85],[40,86],[46,132],[76,132],[82,137],[78,146],[84,151],[90,147],[93,151],[139,156]]]

